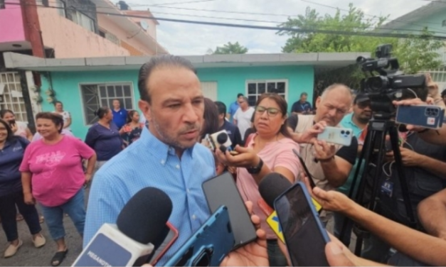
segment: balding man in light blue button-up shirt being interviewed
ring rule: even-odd
[[[157,187],[171,198],[169,222],[179,230],[179,239],[157,263],[163,266],[210,216],[201,185],[216,175],[216,168],[211,151],[196,143],[204,104],[191,62],[173,55],[152,58],[139,71],[138,89],[149,128],[95,174],[83,246],[102,224],[116,223],[136,192]]]

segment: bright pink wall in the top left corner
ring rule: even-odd
[[[18,3],[18,0],[8,0],[6,2]],[[6,9],[0,9],[0,43],[23,40],[26,40],[26,36],[23,28],[21,6],[6,4]]]

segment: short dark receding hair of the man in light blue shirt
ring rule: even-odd
[[[147,82],[149,81],[150,74],[159,67],[183,67],[186,70],[191,70],[196,74],[195,67],[186,58],[181,58],[176,55],[156,55],[144,63],[139,69],[138,75],[138,90],[139,96],[142,100],[151,102],[149,88],[147,88]]]

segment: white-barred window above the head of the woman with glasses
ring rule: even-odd
[[[275,92],[287,99],[287,80],[250,80],[246,82],[246,97],[251,107],[263,93]]]

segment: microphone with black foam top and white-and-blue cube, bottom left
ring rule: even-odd
[[[142,266],[152,256],[153,244],[166,237],[171,212],[172,202],[165,192],[155,187],[139,190],[116,224],[102,225],[73,266]]]

